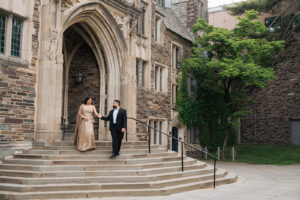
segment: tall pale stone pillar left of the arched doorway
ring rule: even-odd
[[[56,4],[41,5],[41,43],[38,69],[36,141],[61,140],[63,56],[57,54]]]

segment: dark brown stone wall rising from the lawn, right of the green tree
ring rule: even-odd
[[[300,34],[298,34],[298,37]],[[299,37],[300,38],[300,37]],[[290,120],[300,118],[300,49],[292,42],[278,56],[274,69],[277,79],[252,95],[253,115],[242,120],[243,143],[291,143]],[[256,120],[255,115],[256,113]]]

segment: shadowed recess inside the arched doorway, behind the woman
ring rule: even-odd
[[[85,25],[87,27],[87,25]],[[63,82],[63,140],[73,138],[79,106],[89,96],[96,109],[100,109],[100,69],[105,62],[98,62],[95,46],[82,24],[77,23],[64,32],[64,82]],[[103,58],[103,55],[100,56]],[[103,70],[102,70],[103,71]],[[102,84],[104,82],[102,81]],[[105,84],[106,85],[106,84]],[[104,105],[106,106],[106,105]],[[105,110],[105,109],[104,109]],[[95,121],[98,138],[99,120]]]

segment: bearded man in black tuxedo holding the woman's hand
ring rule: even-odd
[[[112,156],[114,158],[120,155],[121,143],[127,129],[126,110],[120,108],[120,101],[114,100],[113,110],[107,117],[99,115],[102,120],[109,121],[109,130],[112,137]]]

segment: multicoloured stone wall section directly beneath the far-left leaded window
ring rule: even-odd
[[[36,75],[28,65],[1,60],[0,74],[0,141],[31,141]]]

